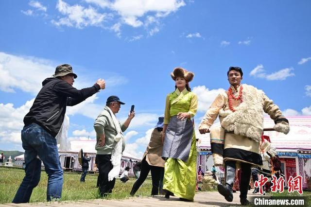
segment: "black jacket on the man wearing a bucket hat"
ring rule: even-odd
[[[78,90],[63,80],[47,78],[42,82],[33,106],[24,117],[24,124],[36,123],[56,137],[64,121],[66,106],[79,104],[100,89],[95,84]]]

